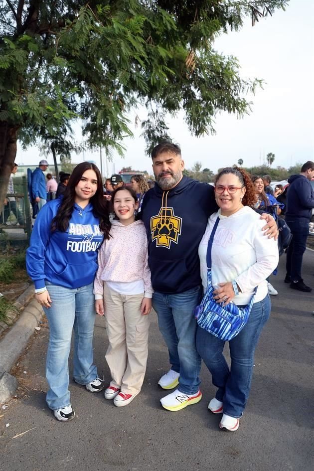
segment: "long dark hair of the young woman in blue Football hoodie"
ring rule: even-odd
[[[91,162],[79,163],[73,169],[57,214],[52,220],[51,231],[58,230],[61,232],[66,232],[74,208],[76,195],[75,187],[86,170],[94,170],[96,173],[97,190],[89,202],[93,205],[94,216],[99,218],[99,228],[103,232],[104,238],[109,239],[111,224],[109,220],[108,203],[103,194],[102,177],[98,167]]]

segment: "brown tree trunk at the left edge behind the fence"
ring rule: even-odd
[[[18,128],[0,122],[0,212],[7,193],[7,185],[16,157],[16,136]]]

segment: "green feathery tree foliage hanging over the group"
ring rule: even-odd
[[[247,92],[262,82],[241,78],[236,58],[216,52],[213,41],[239,29],[245,16],[254,23],[286,4],[1,1],[0,171],[14,161],[16,136],[24,147],[39,140],[70,155],[78,119],[91,148],[122,155],[121,142],[132,135],[130,112],[139,104],[148,109],[142,125],[148,152],[170,139],[166,112],[183,109],[195,136],[214,132],[219,111],[243,116],[250,111]]]

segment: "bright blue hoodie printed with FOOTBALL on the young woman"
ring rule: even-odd
[[[41,208],[31,233],[26,269],[36,289],[43,288],[45,280],[64,288],[89,285],[98,268],[98,249],[104,237],[93,205],[82,209],[74,204],[67,231],[51,232],[60,203],[54,199]]]

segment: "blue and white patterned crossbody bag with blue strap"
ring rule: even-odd
[[[217,217],[213,230],[210,234],[207,247],[207,289],[199,306],[196,306],[194,315],[198,325],[207,330],[207,332],[215,335],[221,340],[232,340],[243,329],[249,319],[249,315],[254,303],[257,287],[250,300],[245,307],[239,307],[233,303],[222,306],[214,300],[214,288],[211,283],[211,247],[214,235],[219,223]]]

